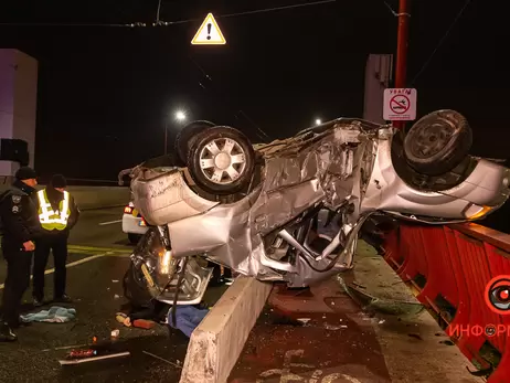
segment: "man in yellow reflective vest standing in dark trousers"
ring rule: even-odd
[[[79,210],[73,196],[65,190],[67,182],[62,174],[53,175],[50,184],[38,192],[39,221],[42,236],[35,242],[33,266],[33,304],[39,307],[44,300],[44,270],[50,251],[54,258],[54,290],[55,301],[71,301],[65,294],[67,238],[70,231],[78,221]]]

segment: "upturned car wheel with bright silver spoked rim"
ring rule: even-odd
[[[213,194],[234,194],[248,185],[254,167],[255,151],[247,137],[224,126],[198,134],[188,156],[194,182]]]

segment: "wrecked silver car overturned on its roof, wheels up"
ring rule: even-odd
[[[208,262],[259,280],[305,287],[352,268],[374,214],[425,224],[474,221],[509,196],[510,170],[468,155],[454,110],[389,125],[338,118],[252,145],[238,130],[195,121],[160,157],[120,175],[151,225],[131,255],[126,295],[198,304]],[[119,175],[119,179],[121,178]]]

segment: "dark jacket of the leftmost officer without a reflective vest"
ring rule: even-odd
[[[18,180],[2,193],[0,201],[2,247],[19,249],[23,243],[40,237],[42,230],[35,199],[35,189]]]

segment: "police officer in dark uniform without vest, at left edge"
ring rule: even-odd
[[[35,171],[29,167],[15,172],[12,187],[0,200],[2,223],[2,253],[7,260],[7,278],[2,297],[0,341],[15,341],[12,328],[22,325],[19,309],[21,298],[30,284],[33,241],[41,232],[34,202]]]

